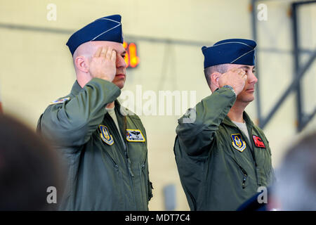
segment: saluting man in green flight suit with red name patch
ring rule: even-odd
[[[226,39],[202,48],[212,94],[178,120],[173,149],[191,210],[237,210],[274,179],[268,140],[244,112],[258,82],[255,47]]]

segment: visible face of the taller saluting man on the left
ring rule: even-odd
[[[124,57],[126,55],[126,51],[123,47],[123,45],[119,42],[113,42],[113,41],[92,41],[93,43],[93,54],[97,51],[99,47],[102,46],[110,46],[114,51],[117,52],[117,61],[116,61],[116,67],[117,72],[115,74],[115,77],[112,81],[112,83],[116,84],[119,89],[122,89],[125,84],[126,80],[126,63],[124,60]]]

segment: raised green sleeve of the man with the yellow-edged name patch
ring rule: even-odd
[[[93,78],[70,101],[48,106],[37,129],[58,146],[81,146],[103,121],[105,105],[120,93],[112,82]]]

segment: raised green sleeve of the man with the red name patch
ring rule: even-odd
[[[223,87],[197,103],[178,120],[176,134],[187,155],[205,155],[225,116],[236,101],[235,93]]]

